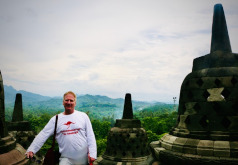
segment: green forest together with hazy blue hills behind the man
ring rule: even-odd
[[[11,121],[17,91],[7,86],[5,89],[5,119]],[[23,93],[23,118],[30,122],[31,129],[36,134],[44,128],[51,117],[64,111],[61,97],[50,98],[24,91],[21,93]],[[176,104],[132,101],[132,105],[134,119],[141,121],[142,127],[147,132],[148,143],[159,140],[176,124]],[[114,127],[116,119],[122,118],[123,106],[124,99],[121,98],[112,99],[100,95],[77,96],[75,109],[87,113],[91,120],[97,141],[98,156],[102,155],[106,149],[109,130]],[[52,138],[49,138],[37,155],[45,155],[51,143]]]

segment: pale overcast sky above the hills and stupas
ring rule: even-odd
[[[173,102],[210,52],[216,3],[238,53],[237,0],[0,0],[4,85]]]

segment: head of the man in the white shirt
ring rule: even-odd
[[[72,91],[68,91],[64,94],[63,97],[63,105],[64,105],[64,113],[66,115],[71,114],[74,112],[74,108],[76,105],[76,95]]]

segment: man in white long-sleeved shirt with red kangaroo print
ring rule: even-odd
[[[75,110],[76,95],[66,92],[63,97],[65,111],[58,115],[56,140],[61,153],[59,165],[86,165],[97,158],[97,146],[92,125],[87,114]],[[27,149],[32,158],[54,133],[56,117],[52,117]]]

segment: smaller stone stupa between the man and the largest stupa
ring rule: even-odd
[[[133,119],[131,94],[126,94],[122,119],[117,119],[107,138],[107,148],[99,165],[146,165],[147,135],[140,120]]]

